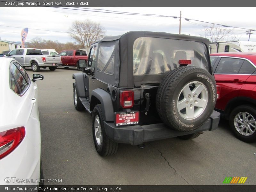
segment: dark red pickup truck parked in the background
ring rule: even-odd
[[[86,52],[82,50],[64,50],[59,55],[61,56],[62,67],[76,67],[79,71],[82,71],[82,69],[78,66],[78,60],[88,60]]]

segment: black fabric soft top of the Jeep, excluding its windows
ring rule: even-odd
[[[118,36],[105,36],[101,40],[96,41],[93,44],[98,43],[99,45],[107,45],[110,42],[116,42],[119,45],[116,49],[116,53],[119,58],[116,58],[115,63],[115,75],[111,80],[110,77],[104,78],[118,87],[123,88],[133,88],[133,44],[134,41],[139,37],[156,37],[156,38],[166,38],[166,39],[178,39],[187,41],[196,41],[204,43],[207,50],[209,49],[210,41],[203,37],[188,36],[188,35],[178,35],[164,32],[151,32],[151,31],[130,31],[123,35]]]

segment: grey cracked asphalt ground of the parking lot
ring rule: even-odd
[[[26,71],[32,77],[30,68]],[[41,69],[37,81],[45,185],[222,185],[226,177],[247,177],[256,185],[256,143],[237,140],[228,123],[194,140],[178,138],[120,144],[114,156],[94,148],[92,120],[73,104],[75,68]]]

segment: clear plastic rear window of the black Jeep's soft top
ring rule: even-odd
[[[178,68],[179,60],[191,60],[190,66],[209,71],[208,57],[201,42],[140,37],[133,44],[133,74],[165,74]]]

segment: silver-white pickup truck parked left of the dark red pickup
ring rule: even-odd
[[[17,60],[24,68],[31,67],[34,72],[46,67],[54,71],[62,65],[60,55],[43,55],[40,49],[13,49],[6,56]]]

